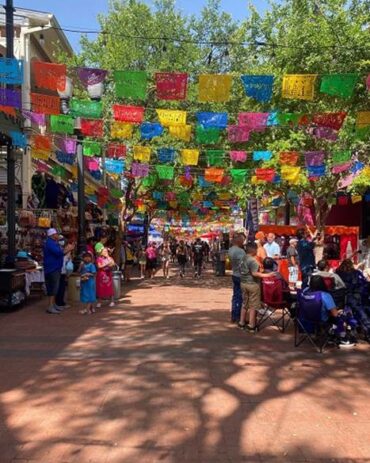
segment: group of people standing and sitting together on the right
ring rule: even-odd
[[[285,304],[295,316],[297,290],[303,294],[317,294],[322,304],[321,320],[332,325],[333,342],[340,347],[351,347],[357,340],[354,335],[362,332],[370,342],[370,291],[366,271],[369,246],[362,244],[359,264],[351,258],[344,259],[334,271],[323,255],[320,233],[298,230],[290,237],[285,255],[288,260],[289,278],[285,280],[279,269],[281,245],[273,233],[256,234],[254,242],[246,243],[246,234],[234,234],[229,249],[232,265],[233,296],[231,322],[248,332],[258,329],[257,315],[262,310],[263,280],[280,280]],[[261,284],[262,283],[262,284]]]

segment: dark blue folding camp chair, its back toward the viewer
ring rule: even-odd
[[[297,302],[294,345],[298,347],[308,339],[321,354],[330,340],[330,324],[321,320],[321,293],[301,291]]]

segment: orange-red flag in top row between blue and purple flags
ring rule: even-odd
[[[35,86],[38,88],[64,91],[67,82],[67,66],[65,64],[31,61]]]

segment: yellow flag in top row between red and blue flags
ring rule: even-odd
[[[232,76],[228,74],[201,74],[199,76],[199,101],[229,101]]]

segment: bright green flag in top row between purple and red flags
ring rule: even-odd
[[[115,71],[113,78],[119,98],[146,99],[148,75],[145,71]]]

